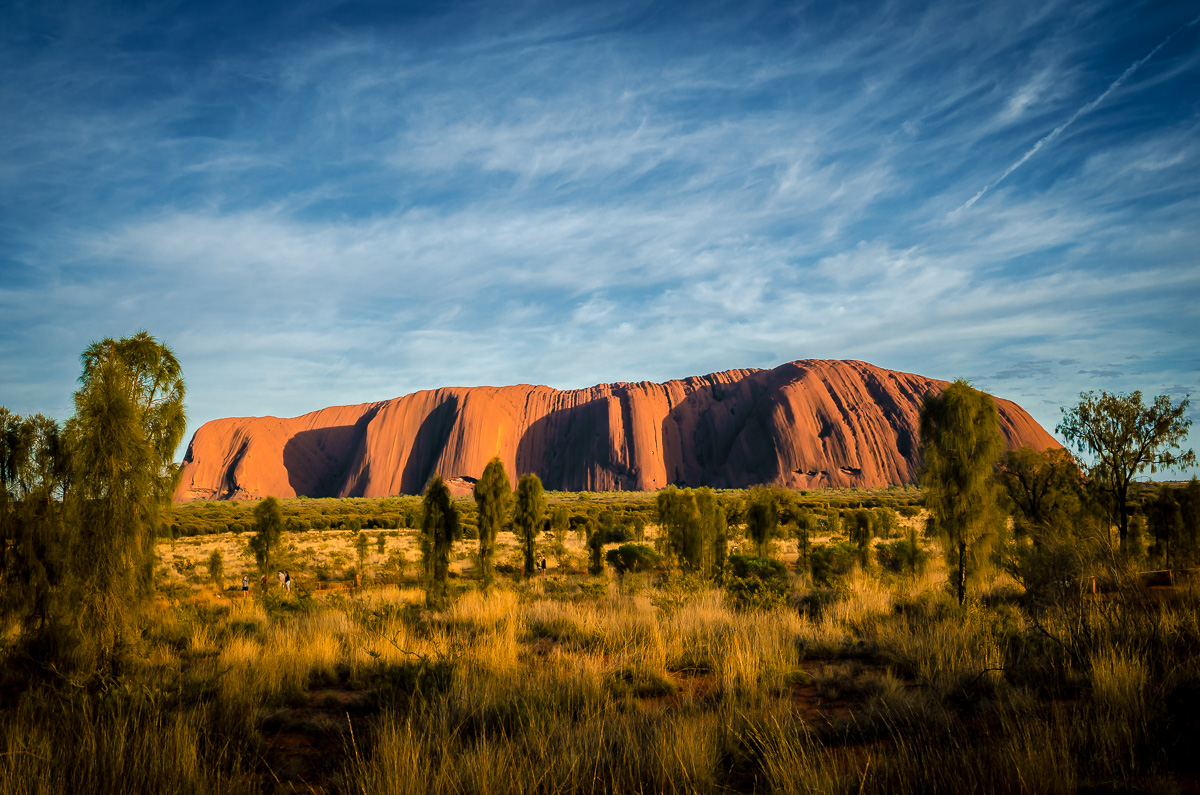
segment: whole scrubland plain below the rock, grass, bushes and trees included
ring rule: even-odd
[[[1085,471],[956,381],[923,491],[514,492],[497,456],[467,500],[170,506],[174,354],[82,360],[65,424],[0,407],[0,793],[1200,781],[1200,480],[1133,480],[1195,462],[1187,399],[1081,395]]]

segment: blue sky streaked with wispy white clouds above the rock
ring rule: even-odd
[[[0,404],[65,418],[139,329],[191,430],[800,358],[1048,430],[1081,390],[1200,398],[1198,17],[6,2]]]

